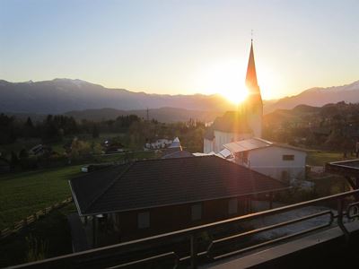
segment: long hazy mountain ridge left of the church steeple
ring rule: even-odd
[[[70,110],[116,108],[186,108],[219,110],[234,107],[221,95],[168,95],[109,89],[81,80],[54,79],[44,82],[0,81],[0,111],[65,113]]]

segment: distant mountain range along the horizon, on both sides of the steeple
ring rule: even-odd
[[[10,114],[66,114],[76,118],[103,119],[136,114],[160,121],[211,121],[235,106],[220,94],[168,95],[109,89],[82,80],[54,79],[43,82],[0,80],[0,112]],[[321,107],[339,101],[359,102],[359,81],[343,86],[311,88],[280,100],[265,100],[264,111],[291,109],[301,104]]]

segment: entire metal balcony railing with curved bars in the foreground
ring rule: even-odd
[[[210,263],[218,259],[229,256],[240,255],[258,247],[266,247],[287,239],[293,239],[303,234],[316,230],[323,230],[329,226],[337,224],[343,231],[346,239],[350,233],[346,230],[344,218],[347,221],[354,221],[359,217],[359,202],[357,201],[359,190],[348,191],[338,195],[321,197],[311,201],[298,204],[290,204],[276,209],[263,212],[251,213],[224,221],[217,221],[205,225],[177,230],[169,233],[156,235],[145,239],[137,239],[109,247],[100,247],[66,256],[57,256],[39,262],[16,265],[13,268],[123,268],[138,267],[153,263],[164,263],[165,267],[177,267],[181,264],[190,265],[196,268],[198,264]],[[327,208],[319,213],[311,213],[292,220],[281,221],[275,224],[246,230],[220,238],[203,240],[202,234],[213,233],[215,230],[226,230],[228,227],[241,224],[245,221],[252,221],[258,218],[273,216],[278,213],[291,212],[296,209],[311,205],[335,202],[335,208]],[[253,236],[267,230],[275,230],[294,223],[301,223],[314,218],[328,216],[326,223],[311,227],[310,229],[300,230],[292,234],[280,236],[276,239],[268,239],[263,242],[254,243],[250,246],[238,247],[233,249],[245,237]],[[230,246],[228,248],[228,246]],[[229,249],[226,251],[226,249]],[[219,251],[221,250],[221,251]]]

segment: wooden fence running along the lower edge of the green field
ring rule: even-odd
[[[52,204],[51,206],[48,206],[42,210],[39,210],[37,213],[31,214],[30,216],[22,219],[22,221],[17,221],[15,223],[13,223],[13,227],[6,228],[6,229],[0,231],[0,239],[7,238],[8,236],[12,235],[13,233],[18,232],[19,230],[22,230],[23,228],[25,228],[32,222],[39,220],[40,217],[50,213],[54,209],[61,208],[61,207],[65,206],[66,204],[70,204],[72,201],[73,201],[73,198],[68,197],[62,202]]]

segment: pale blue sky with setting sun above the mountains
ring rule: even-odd
[[[357,0],[0,0],[0,79],[231,96],[251,30],[266,100],[359,80]]]

